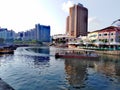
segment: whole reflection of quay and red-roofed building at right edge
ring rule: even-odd
[[[101,62],[95,63],[95,69],[108,76],[120,76],[120,57],[102,55]]]

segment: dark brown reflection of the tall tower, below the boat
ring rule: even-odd
[[[81,86],[86,79],[86,61],[82,60],[65,60],[65,70],[67,80],[73,86]]]

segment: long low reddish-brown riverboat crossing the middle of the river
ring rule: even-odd
[[[94,50],[64,50],[55,53],[55,58],[88,58],[96,59],[99,55]]]

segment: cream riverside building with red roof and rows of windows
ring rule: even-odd
[[[88,38],[93,42],[101,41],[108,45],[120,43],[120,27],[110,26],[90,32]]]

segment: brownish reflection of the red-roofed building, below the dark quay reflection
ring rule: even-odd
[[[115,60],[95,63],[95,69],[109,76],[120,76],[120,62]]]

